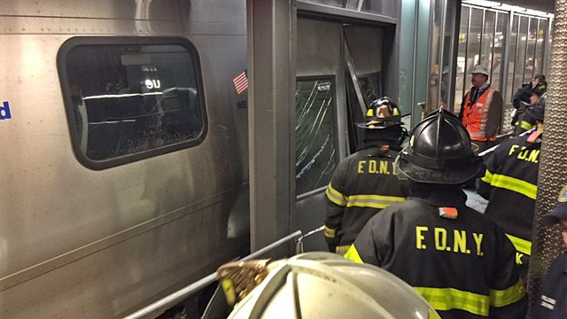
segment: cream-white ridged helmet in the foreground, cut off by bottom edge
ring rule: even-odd
[[[268,268],[229,318],[440,318],[397,276],[336,253],[303,253]]]

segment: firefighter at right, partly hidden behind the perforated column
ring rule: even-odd
[[[478,186],[478,194],[488,199],[485,215],[506,232],[516,247],[522,278],[527,275],[532,252],[544,111],[543,103],[526,110],[525,115],[537,122],[537,129],[530,135],[517,136],[498,145],[485,161],[485,176]]]

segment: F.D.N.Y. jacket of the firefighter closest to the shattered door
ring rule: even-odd
[[[389,147],[370,146],[338,164],[327,187],[324,234],[331,252],[346,253],[370,217],[406,199],[408,184],[393,166],[396,155]]]

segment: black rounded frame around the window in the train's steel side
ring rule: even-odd
[[[200,129],[196,130],[195,136],[190,136],[188,139],[184,139],[178,142],[173,142],[172,144],[159,145],[157,147],[152,147],[150,149],[145,149],[139,152],[131,152],[121,154],[119,156],[108,158],[108,159],[91,159],[89,158],[86,151],[81,149],[81,136],[77,134],[79,131],[79,125],[75,121],[75,104],[73,101],[73,92],[69,83],[69,67],[68,60],[70,52],[75,48],[82,46],[172,46],[178,45],[183,47],[190,55],[190,63],[192,64],[193,76],[191,81],[194,81],[195,88],[184,88],[184,89],[194,89],[196,91],[195,102],[199,105],[195,108],[197,111],[197,120]],[[205,138],[208,131],[208,117],[206,113],[205,104],[205,94],[203,89],[203,78],[200,67],[200,58],[198,56],[197,48],[190,43],[190,41],[183,37],[161,37],[161,36],[151,36],[151,37],[136,37],[136,36],[76,36],[69,38],[65,43],[61,45],[58,50],[57,55],[57,68],[59,75],[59,84],[61,86],[61,91],[63,94],[64,106],[66,111],[67,127],[69,128],[69,136],[71,137],[71,144],[74,152],[75,158],[82,164],[82,166],[93,170],[103,170],[111,167],[118,167],[128,163],[140,161],[143,159],[151,159],[159,155],[167,154],[169,152],[176,152],[183,149],[188,149],[201,144]],[[189,71],[190,72],[190,69]],[[165,90],[165,89],[164,89]],[[193,92],[195,94],[195,92]],[[184,136],[183,136],[184,137]]]

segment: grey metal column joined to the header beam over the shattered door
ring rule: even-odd
[[[297,20],[307,15],[338,23],[386,27],[388,53],[384,78],[398,78],[400,2],[387,4],[388,12],[371,14],[330,5],[288,1],[247,1],[248,119],[251,191],[251,250],[274,242],[297,229],[296,189],[293,161],[295,122],[293,92],[296,83]],[[359,8],[360,9],[360,8]],[[387,14],[390,14],[388,16]],[[383,48],[382,48],[383,49]],[[387,61],[387,62],[385,62]],[[339,85],[339,84],[338,84]],[[394,100],[398,82],[384,88]],[[346,156],[345,154],[341,159]],[[321,190],[318,194],[323,194]],[[320,196],[321,196],[320,195]],[[320,202],[319,205],[324,205]],[[320,225],[322,219],[318,221]],[[287,253],[291,253],[290,247]],[[276,254],[287,254],[278,250]]]

